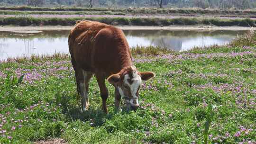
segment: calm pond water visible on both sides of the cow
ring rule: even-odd
[[[224,45],[247,31],[124,30],[130,47],[158,45],[174,51],[194,46]],[[26,35],[0,32],[0,60],[31,54],[68,53],[68,30]]]

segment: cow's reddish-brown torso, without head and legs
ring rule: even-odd
[[[131,64],[128,42],[123,32],[95,21],[76,24],[69,35],[72,59],[85,71],[103,71],[106,76]]]

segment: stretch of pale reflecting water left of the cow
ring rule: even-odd
[[[0,60],[31,54],[68,53],[69,31],[44,31],[39,34],[0,33]]]

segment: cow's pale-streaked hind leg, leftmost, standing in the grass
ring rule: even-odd
[[[88,98],[89,81],[91,80],[91,72],[80,69],[77,72],[77,83],[79,87],[79,93],[82,96],[82,111],[86,111],[89,108],[90,102]]]

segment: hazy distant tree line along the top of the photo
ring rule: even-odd
[[[158,8],[216,8],[253,9],[256,0],[0,0],[2,6],[33,7],[158,7]]]

